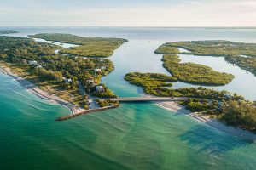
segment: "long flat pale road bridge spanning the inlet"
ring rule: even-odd
[[[184,101],[188,98],[170,98],[170,97],[128,97],[128,98],[115,98],[113,100],[119,102],[132,102],[132,101]]]

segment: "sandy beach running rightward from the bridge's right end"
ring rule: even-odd
[[[144,92],[143,92],[143,95],[145,97],[153,96],[150,94],[145,94]],[[177,113],[184,114],[186,116],[190,116],[190,117],[194,118],[196,121],[205,123],[208,126],[216,128],[221,132],[229,133],[229,134],[236,136],[240,139],[256,142],[256,134],[254,134],[250,131],[247,131],[247,130],[243,130],[239,127],[227,126],[226,124],[224,124],[224,122],[218,122],[218,120],[216,120],[210,116],[201,115],[200,113],[197,113],[197,112],[191,112],[191,111],[185,109],[185,107],[183,105],[179,105],[177,102],[165,101],[165,102],[155,102],[155,104],[159,105],[160,107],[162,107],[168,111],[174,111]]]

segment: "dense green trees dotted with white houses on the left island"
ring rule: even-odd
[[[31,38],[0,37],[0,60],[3,64],[40,88],[85,108],[88,102],[79,94],[79,82],[88,94],[116,97],[104,85],[104,90],[96,91],[96,86],[101,85],[101,78],[113,71],[113,63],[109,59],[70,57],[55,54],[56,49],[60,47],[35,42]]]

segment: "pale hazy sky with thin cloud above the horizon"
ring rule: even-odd
[[[256,0],[0,0],[0,26],[256,26]]]

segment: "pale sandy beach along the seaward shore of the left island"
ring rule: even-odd
[[[23,88],[26,88],[33,94],[36,94],[41,99],[46,99],[51,103],[59,104],[59,105],[63,105],[65,107],[67,107],[71,111],[72,115],[79,114],[80,112],[85,111],[84,109],[81,109],[76,105],[73,105],[72,103],[66,101],[65,99],[61,99],[60,97],[56,96],[55,94],[49,94],[49,93],[41,90],[32,82],[27,81],[26,78],[19,77],[19,75],[13,73],[8,67],[5,67],[1,64],[0,64],[0,72],[2,72],[3,74],[9,75],[10,77],[13,77],[17,82],[20,83],[20,85]]]

